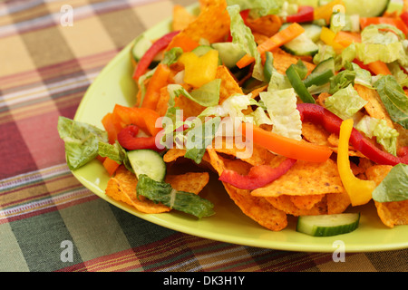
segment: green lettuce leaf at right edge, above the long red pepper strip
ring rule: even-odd
[[[408,129],[408,97],[401,85],[392,75],[384,75],[374,82],[374,88],[380,95],[391,120]]]

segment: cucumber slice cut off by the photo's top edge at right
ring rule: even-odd
[[[360,17],[379,17],[388,8],[390,0],[343,0],[345,14],[359,14]]]

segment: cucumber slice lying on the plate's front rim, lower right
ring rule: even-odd
[[[329,237],[350,233],[358,227],[360,213],[300,216],[296,231],[314,237]]]

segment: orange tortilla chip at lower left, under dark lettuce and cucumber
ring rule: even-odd
[[[114,177],[109,179],[105,189],[105,194],[115,200],[122,201],[142,213],[158,214],[170,211],[169,207],[153,201],[143,196],[137,197],[136,186],[138,180],[136,176],[124,166],[120,166]]]

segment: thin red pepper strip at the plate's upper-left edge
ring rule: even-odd
[[[163,36],[160,37],[160,39],[151,44],[151,48],[149,48],[149,50],[146,53],[144,53],[144,55],[141,57],[141,60],[136,65],[136,68],[134,70],[133,79],[136,82],[139,80],[141,75],[146,73],[154,57],[162,50],[164,50],[170,44],[173,37],[179,33],[180,31],[174,31],[170,32],[169,34],[164,34]]]

